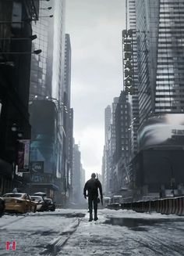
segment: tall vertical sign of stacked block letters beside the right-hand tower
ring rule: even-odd
[[[133,30],[122,31],[124,87],[133,94]]]

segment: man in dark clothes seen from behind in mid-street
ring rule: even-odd
[[[103,195],[101,182],[96,178],[95,173],[92,173],[91,178],[86,182],[83,188],[83,196],[85,199],[88,197],[88,207],[90,211],[90,219],[89,222],[93,220],[93,204],[94,204],[94,221],[97,221],[97,199],[98,199],[98,191],[100,190],[101,194],[101,204],[103,204]]]

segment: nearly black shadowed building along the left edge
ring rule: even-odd
[[[30,139],[31,20],[37,20],[39,1],[0,2],[0,193],[27,180],[16,175],[19,139]],[[29,165],[29,164],[28,164]]]

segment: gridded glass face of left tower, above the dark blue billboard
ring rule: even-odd
[[[40,56],[32,56],[31,58],[31,70],[30,70],[30,99],[34,99],[35,96],[41,96],[43,99],[45,96],[51,97],[51,82],[47,81],[51,77],[52,68],[50,68],[50,74],[48,76],[48,63],[52,64],[53,49],[48,48],[51,31],[53,31],[53,17],[50,17],[53,9],[53,1],[40,2],[39,15],[41,18],[32,23],[33,34],[37,35],[37,38],[33,42],[33,49],[41,49]],[[48,28],[52,27],[49,31]],[[51,52],[51,53],[50,53]],[[50,55],[48,58],[48,54]]]

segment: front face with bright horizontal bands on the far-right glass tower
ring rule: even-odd
[[[184,107],[184,1],[160,1],[155,112]]]

